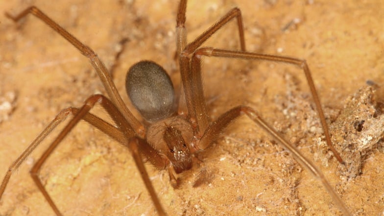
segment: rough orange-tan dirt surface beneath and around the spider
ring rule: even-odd
[[[177,3],[26,0],[1,1],[0,8],[1,14],[16,14],[31,4],[40,7],[113,69],[117,88],[133,110],[124,79],[135,62],[156,61],[179,83],[173,58]],[[249,51],[307,60],[346,166],[327,151],[309,88],[297,67],[205,58],[211,118],[240,104],[255,108],[324,172],[354,216],[384,215],[383,1],[190,1],[188,40],[235,6],[242,11]],[[88,96],[105,92],[88,60],[45,24],[32,16],[19,24],[5,17],[0,21],[2,176],[61,109],[79,107]],[[204,45],[238,49],[236,24]],[[100,109],[94,113],[105,117]],[[11,177],[0,200],[0,216],[53,215],[28,174],[52,137]],[[198,159],[179,175],[176,190],[167,171],[147,166],[169,216],[341,215],[324,187],[245,117]],[[86,123],[55,150],[40,176],[64,215],[156,215],[127,149]],[[198,176],[206,177],[193,187]]]

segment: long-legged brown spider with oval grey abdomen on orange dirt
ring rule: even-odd
[[[20,158],[18,158],[14,164],[11,165],[10,171],[7,172],[0,186],[0,196],[4,193],[12,172],[20,166],[20,164],[34,150],[34,148],[40,144],[60,122],[62,122],[69,114],[73,114],[74,117],[72,120],[60,132],[58,137],[48,147],[31,170],[34,182],[43,193],[56,215],[61,215],[61,212],[39,179],[39,170],[55,147],[60,144],[60,142],[71,132],[72,128],[75,127],[80,120],[89,122],[97,129],[129,149],[135,160],[136,166],[141,172],[141,177],[143,178],[144,184],[152,198],[157,213],[159,215],[166,215],[166,212],[164,211],[159,198],[153,189],[152,183],[149,180],[141,155],[143,155],[145,160],[149,161],[156,168],[168,169],[170,184],[173,187],[177,187],[177,174],[192,167],[191,155],[197,154],[198,152],[208,148],[221,136],[224,129],[231,122],[236,120],[238,117],[245,115],[261,126],[277,142],[287,148],[303,167],[310,170],[310,172],[322,182],[343,214],[350,215],[347,208],[338,198],[336,192],[326,181],[324,175],[317,168],[315,168],[315,166],[312,165],[308,159],[302,156],[302,154],[292,144],[286,141],[278,132],[262,120],[253,108],[238,106],[227,111],[213,121],[209,119],[207,114],[201,80],[200,63],[203,56],[267,60],[300,66],[307,76],[312,96],[325,131],[327,142],[331,150],[333,150],[336,158],[342,162],[330,142],[325,118],[322,113],[320,102],[314,89],[311,74],[306,62],[290,57],[247,52],[245,49],[241,13],[238,8],[230,10],[216,24],[207,29],[206,32],[202,33],[193,42],[187,43],[186,30],[184,27],[186,19],[186,5],[187,1],[181,0],[176,19],[177,57],[179,60],[183,93],[180,95],[174,93],[173,84],[170,81],[167,72],[165,72],[161,66],[152,61],[138,62],[132,66],[127,73],[127,93],[136,109],[144,118],[145,122],[137,120],[128,110],[117,92],[117,88],[112,82],[107,69],[91,48],[78,41],[74,36],[52,21],[37,7],[29,7],[15,17],[7,14],[10,19],[18,21],[25,15],[31,13],[55,29],[60,35],[72,43],[72,45],[83,55],[90,59],[91,65],[98,73],[109,97],[94,95],[89,97],[81,108],[71,107],[60,112],[55,120],[53,120],[25,150]],[[225,24],[227,24],[230,20],[237,20],[241,50],[234,51],[200,47],[219,28],[224,28]],[[162,82],[159,82],[159,80]],[[181,103],[180,100],[184,99],[188,108],[188,114],[184,114],[181,109],[178,109],[178,104]],[[95,104],[100,104],[111,116],[116,125],[109,124],[108,122],[89,113]]]

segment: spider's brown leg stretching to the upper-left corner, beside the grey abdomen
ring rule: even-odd
[[[30,6],[22,11],[17,16],[12,16],[9,13],[5,13],[6,17],[13,20],[14,22],[18,22],[20,19],[24,18],[28,14],[33,14],[35,17],[42,20],[49,27],[59,33],[62,37],[64,37],[68,42],[70,42],[73,47],[77,48],[81,54],[85,57],[89,58],[91,65],[95,68],[98,76],[100,77],[101,82],[104,85],[105,90],[107,91],[108,96],[111,98],[111,101],[118,107],[118,109],[124,114],[124,119],[128,120],[128,122],[135,129],[136,133],[140,137],[144,137],[145,129],[144,126],[137,120],[133,114],[128,110],[124,101],[121,99],[119,92],[115,84],[113,83],[112,77],[106,69],[103,62],[98,58],[97,54],[94,50],[81,43],[77,38],[75,38],[71,33],[61,27],[59,24],[50,19],[45,13],[43,13],[36,6]]]

